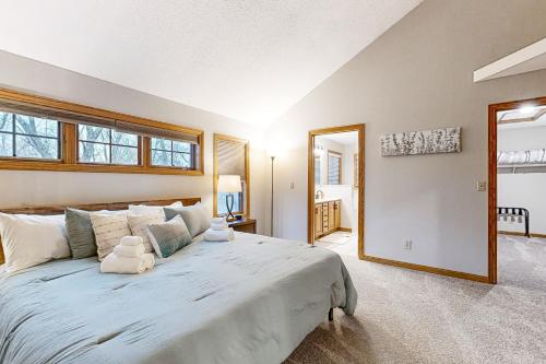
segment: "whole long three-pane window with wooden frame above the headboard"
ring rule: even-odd
[[[0,89],[0,169],[203,175],[204,132]]]

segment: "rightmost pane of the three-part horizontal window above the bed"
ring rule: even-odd
[[[194,165],[191,143],[152,138],[152,165],[190,169]]]

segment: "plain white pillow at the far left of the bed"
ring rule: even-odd
[[[8,272],[70,257],[64,215],[0,213],[0,236]]]

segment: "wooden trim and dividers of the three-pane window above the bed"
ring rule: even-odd
[[[87,173],[127,173],[127,174],[154,174],[154,175],[204,175],[204,131],[181,127],[174,124],[145,119],[127,114],[109,111],[91,106],[73,104],[43,96],[35,96],[12,90],[0,89],[0,98],[36,106],[54,107],[67,111],[92,115],[96,117],[122,120],[143,126],[150,126],[166,130],[180,131],[197,137],[194,163],[195,169],[183,169],[177,167],[164,167],[150,165],[150,138],[140,137],[141,150],[139,151],[139,165],[111,165],[90,164],[78,162],[78,130],[72,124],[60,122],[60,160],[32,160],[17,157],[0,158],[0,169],[13,171],[55,171],[55,172],[87,172]],[[198,148],[199,146],[199,148]]]

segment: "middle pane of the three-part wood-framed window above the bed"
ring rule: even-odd
[[[78,161],[96,164],[140,164],[139,136],[110,128],[78,126]]]

